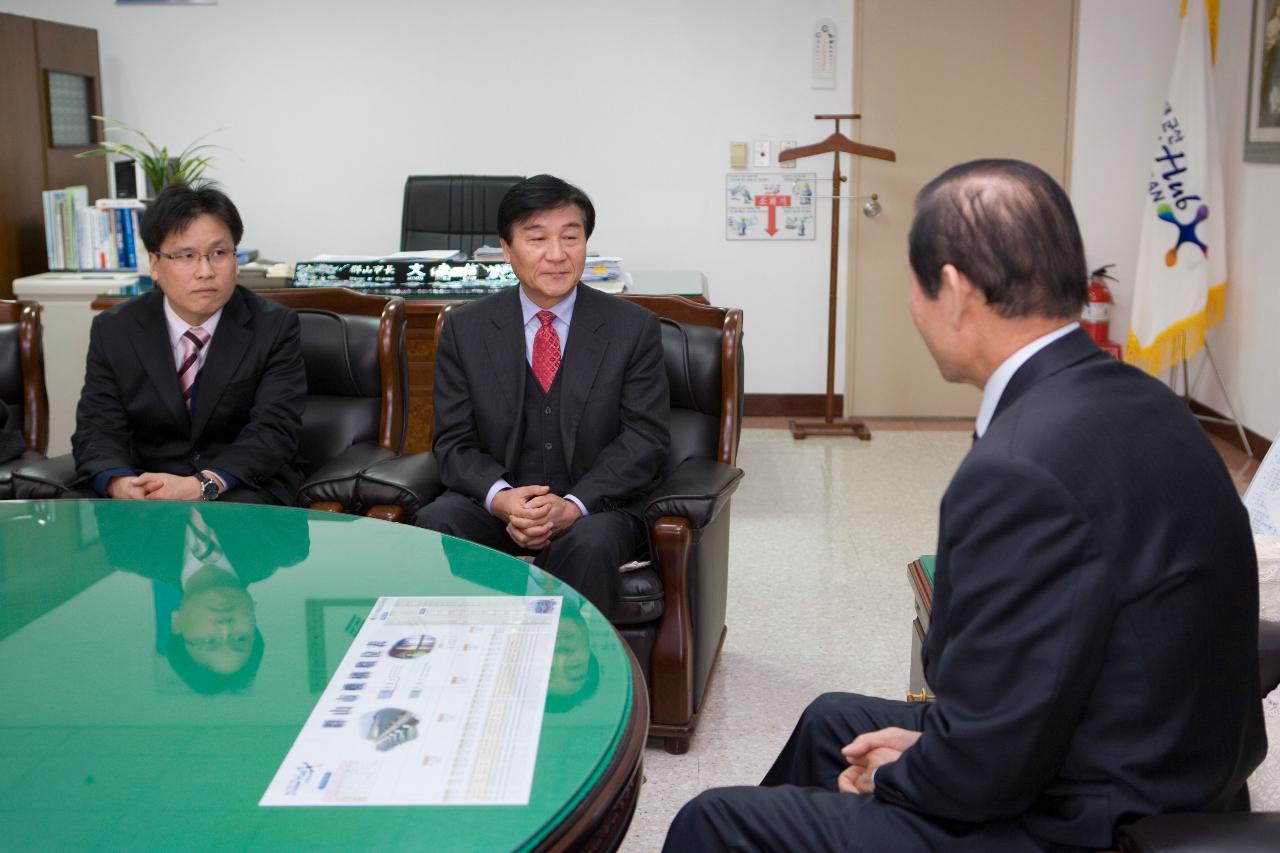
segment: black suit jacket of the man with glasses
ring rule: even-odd
[[[212,467],[293,503],[307,388],[297,315],[237,287],[209,346],[188,412],[160,289],[93,318],[72,435],[82,479]]]

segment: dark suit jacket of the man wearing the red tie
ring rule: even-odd
[[[529,374],[515,287],[449,311],[433,386],[433,450],[447,488],[483,502],[498,479],[515,482]],[[640,501],[671,441],[658,318],[579,284],[559,383],[570,493],[588,512]]]

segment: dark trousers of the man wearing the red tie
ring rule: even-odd
[[[419,510],[413,524],[517,557],[532,556],[535,566],[582,593],[605,616],[618,598],[618,566],[635,560],[645,542],[643,521],[613,510],[585,515],[541,551],[529,551],[512,540],[506,524],[457,492],[445,492]]]

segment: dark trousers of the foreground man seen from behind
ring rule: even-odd
[[[888,726],[919,730],[924,704],[826,693],[805,708],[759,786],[713,788],[690,800],[667,833],[684,850],[1039,850],[1016,824],[931,820],[873,794],[841,794],[840,749]]]

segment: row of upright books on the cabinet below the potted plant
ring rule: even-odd
[[[137,199],[99,199],[88,204],[88,187],[46,190],[45,254],[51,270],[146,272]]]

